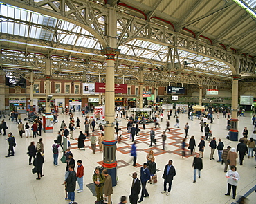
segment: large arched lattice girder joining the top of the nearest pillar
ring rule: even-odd
[[[57,19],[70,21],[92,33],[100,41],[103,47],[108,46],[106,39],[107,33],[104,32],[107,32],[108,30],[106,26],[108,26],[107,17],[109,8],[98,3],[80,0],[43,0],[38,2],[32,0],[3,0],[3,2],[20,8],[33,10]],[[104,25],[99,21],[102,17],[105,18]],[[218,59],[230,66],[232,74],[239,74],[239,71],[241,70],[241,67],[235,67],[235,59],[237,55],[229,53],[217,46],[208,45],[203,41],[193,39],[187,35],[171,31],[169,28],[170,26],[153,24],[152,22],[138,19],[137,17],[122,12],[118,12],[118,22],[122,27],[118,28],[118,32],[121,31],[120,35],[117,34],[118,46],[125,44],[132,39],[142,39],[164,46],[176,46],[180,50],[187,50],[205,57]],[[254,74],[255,62],[242,55],[240,57],[240,62],[242,61],[240,64],[247,64],[246,70]]]

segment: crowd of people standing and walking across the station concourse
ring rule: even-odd
[[[225,113],[224,113],[225,112]],[[226,112],[223,110],[222,114],[223,117],[226,115]],[[155,136],[156,133],[154,129],[160,128],[160,120],[163,122],[163,109],[156,109],[155,117],[154,117],[154,124],[152,124],[152,127],[149,131],[149,138],[150,138],[150,145],[149,147],[152,147],[153,143],[156,145]],[[176,118],[176,126],[179,128],[179,113],[183,113],[181,110],[175,110],[174,117]],[[192,120],[192,114],[191,111],[188,111],[189,113],[189,120]],[[218,112],[220,113],[220,112]],[[53,113],[53,115],[56,113]],[[136,147],[136,136],[138,136],[140,132],[139,128],[139,122],[136,120],[136,117],[131,114],[131,116],[128,118],[128,113],[124,109],[118,109],[117,111],[117,118],[118,114],[120,114],[120,117],[122,115],[125,115],[125,119],[127,120],[127,133],[130,133],[130,139],[133,142],[131,145],[131,156],[133,156],[133,164],[135,167],[137,166],[136,160],[137,160],[137,147]],[[162,114],[162,115],[161,115]],[[198,114],[198,113],[196,113]],[[214,110],[211,112],[210,115],[214,114]],[[33,124],[26,124],[24,125],[22,123],[21,118],[19,118],[19,114],[17,115],[17,120],[15,120],[15,117],[13,116],[14,120],[13,122],[17,122],[17,129],[19,131],[19,136],[22,138],[23,134],[26,133],[26,137],[32,137],[36,138],[37,136],[42,136],[42,118],[39,117],[39,114],[35,114],[36,117],[33,120]],[[223,141],[221,141],[220,138],[212,137],[212,133],[210,130],[210,127],[208,125],[208,121],[210,123],[213,121],[212,116],[209,117],[205,115],[203,119],[201,117],[197,118],[201,120],[199,122],[200,130],[201,132],[204,131],[204,136],[201,136],[201,140],[199,143],[196,143],[195,137],[191,136],[189,143],[186,143],[186,139],[188,138],[188,131],[190,129],[189,123],[185,123],[184,127],[184,138],[181,142],[181,149],[182,149],[182,157],[184,158],[185,155],[185,148],[188,147],[190,149],[190,154],[193,155],[197,147],[199,147],[199,153],[196,153],[192,167],[194,168],[194,179],[193,183],[196,183],[196,171],[198,171],[198,178],[201,178],[201,170],[203,169],[203,153],[206,148],[205,142],[210,140],[210,160],[215,160],[214,153],[217,149],[218,153],[218,163],[224,164],[223,171],[226,172],[226,177],[228,178],[228,192],[226,196],[230,195],[230,190],[232,187],[232,198],[235,198],[236,196],[236,187],[237,182],[239,180],[239,174],[237,173],[237,158],[239,154],[239,165],[243,165],[244,156],[248,154],[248,158],[252,158],[255,156],[255,141],[256,141],[256,131],[253,131],[252,137],[248,138],[248,129],[245,127],[244,131],[242,132],[243,138],[239,140],[239,143],[237,144],[237,147],[225,147]],[[172,110],[167,112],[167,117],[170,118],[172,116]],[[100,152],[104,151],[104,144],[102,143],[104,140],[104,127],[99,124],[97,127],[96,120],[98,118],[93,115],[93,117],[89,117],[89,115],[86,115],[86,113],[82,112],[82,117],[84,117],[84,122],[80,121],[80,118],[77,117],[76,121],[73,116],[73,112],[69,112],[69,122],[68,125],[66,125],[65,121],[63,120],[60,124],[60,131],[58,131],[57,139],[53,141],[53,145],[51,147],[51,150],[53,152],[53,165],[58,166],[58,159],[59,154],[63,151],[63,144],[62,144],[62,137],[66,136],[66,138],[70,138],[71,140],[74,140],[74,132],[75,129],[81,129],[82,123],[84,123],[84,133],[80,131],[78,136],[78,145],[77,149],[85,149],[84,141],[90,140],[91,141],[91,149],[93,150],[93,154],[95,154],[95,148],[96,143],[100,145],[99,149]],[[217,114],[217,118],[219,117],[219,114]],[[226,117],[226,116],[225,116]],[[206,118],[206,120],[205,120]],[[118,120],[116,120],[118,121]],[[143,124],[143,129],[145,129],[145,118],[141,117],[141,123]],[[255,115],[253,115],[252,118],[253,125],[256,124],[256,118]],[[56,121],[57,123],[57,121]],[[161,134],[162,142],[163,142],[163,150],[165,150],[165,140],[166,137],[166,131],[170,131],[170,120],[166,119],[166,128],[165,131]],[[122,140],[122,130],[118,128],[118,122],[116,122],[116,140],[120,142]],[[94,132],[95,129],[100,129],[100,136],[98,138],[95,137]],[[5,120],[3,119],[1,121],[1,127],[0,127],[0,134],[3,131],[3,135],[6,134],[6,129],[8,129],[7,124]],[[31,134],[30,134],[31,132]],[[218,140],[218,142],[217,142]],[[15,151],[14,147],[16,145],[15,136],[12,135],[12,133],[8,133],[8,155],[6,157],[14,156]],[[70,142],[68,141],[68,147],[71,147]],[[238,154],[237,154],[238,153]],[[28,146],[28,164],[34,165],[34,172],[37,173],[37,180],[42,179],[44,174],[42,173],[43,169],[43,163],[44,163],[44,143],[42,142],[42,138],[39,138],[39,142],[35,145],[35,142],[30,142],[30,145]],[[77,160],[77,171],[75,171],[75,160],[73,159],[73,153],[71,153],[71,149],[67,149],[64,154],[64,163],[66,163],[66,171],[65,171],[65,190],[67,192],[66,200],[70,200],[71,203],[74,203],[75,201],[75,183],[77,181],[79,188],[77,189],[77,193],[81,193],[83,191],[83,176],[84,176],[84,167],[82,165],[82,160]],[[33,158],[33,162],[32,162]],[[174,179],[174,176],[176,175],[176,169],[172,165],[173,161],[169,160],[167,165],[165,165],[165,169],[163,169],[163,191],[162,194],[166,194],[167,196],[170,195],[170,191],[172,188],[172,180]],[[228,166],[230,167],[230,170],[228,170]],[[147,183],[152,184],[157,182],[156,177],[156,157],[154,156],[154,151],[149,151],[149,154],[146,157],[145,163],[143,163],[143,167],[140,168],[140,179],[137,178],[137,173],[134,172],[132,175],[133,177],[133,184],[131,185],[131,194],[129,196],[129,201],[132,204],[135,203],[141,203],[143,202],[144,198],[149,197],[149,193],[147,192],[146,185]],[[107,169],[102,170],[100,167],[97,167],[93,174],[93,183],[95,184],[95,191],[97,193],[97,200],[95,203],[104,201],[104,203],[110,203],[111,202],[111,194],[113,194],[112,184],[111,184],[111,176],[108,174]],[[168,189],[167,189],[167,183],[168,183]],[[104,190],[103,190],[104,189]],[[102,192],[104,191],[104,195]],[[141,195],[139,196],[139,194]],[[127,198],[126,196],[122,196],[121,203],[126,203]]]

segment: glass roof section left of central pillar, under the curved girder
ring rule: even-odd
[[[1,33],[86,48],[101,48],[91,33],[67,21],[3,3],[0,3],[0,15]]]

